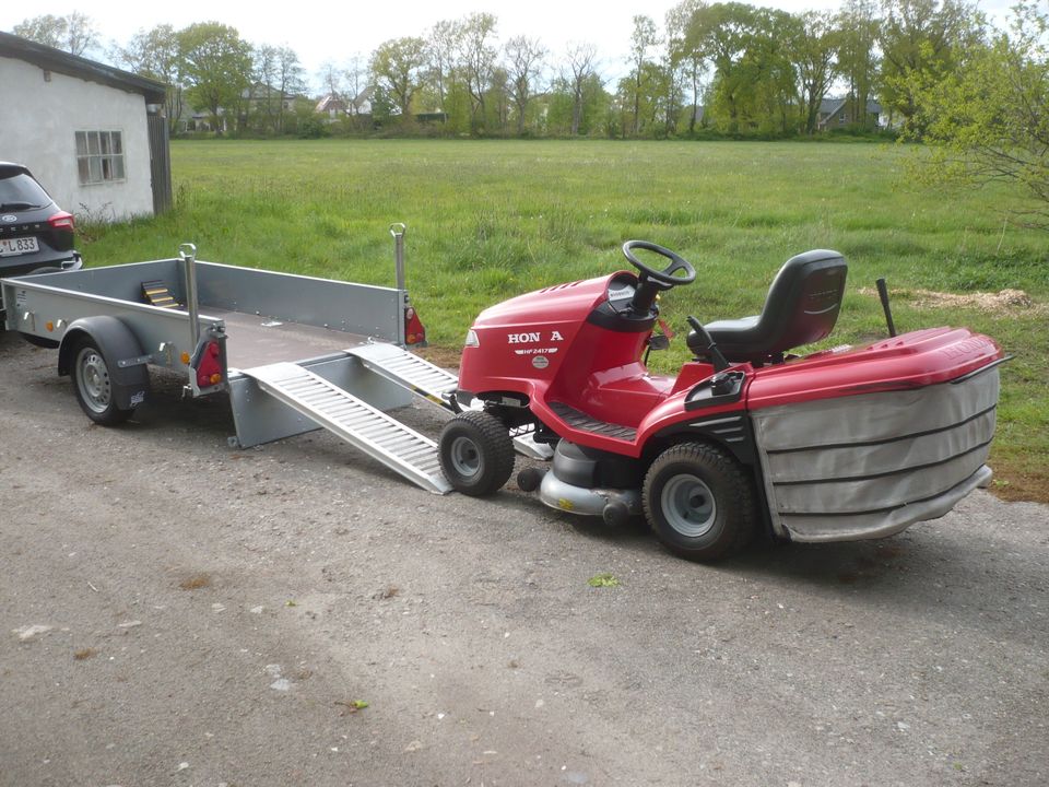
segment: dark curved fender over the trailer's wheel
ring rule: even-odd
[[[73,351],[83,337],[89,337],[109,367],[113,396],[121,410],[138,407],[150,393],[150,373],[146,364],[151,356],[142,352],[142,345],[131,329],[109,315],[83,317],[70,324],[58,350],[58,374],[68,376],[73,366]]]

